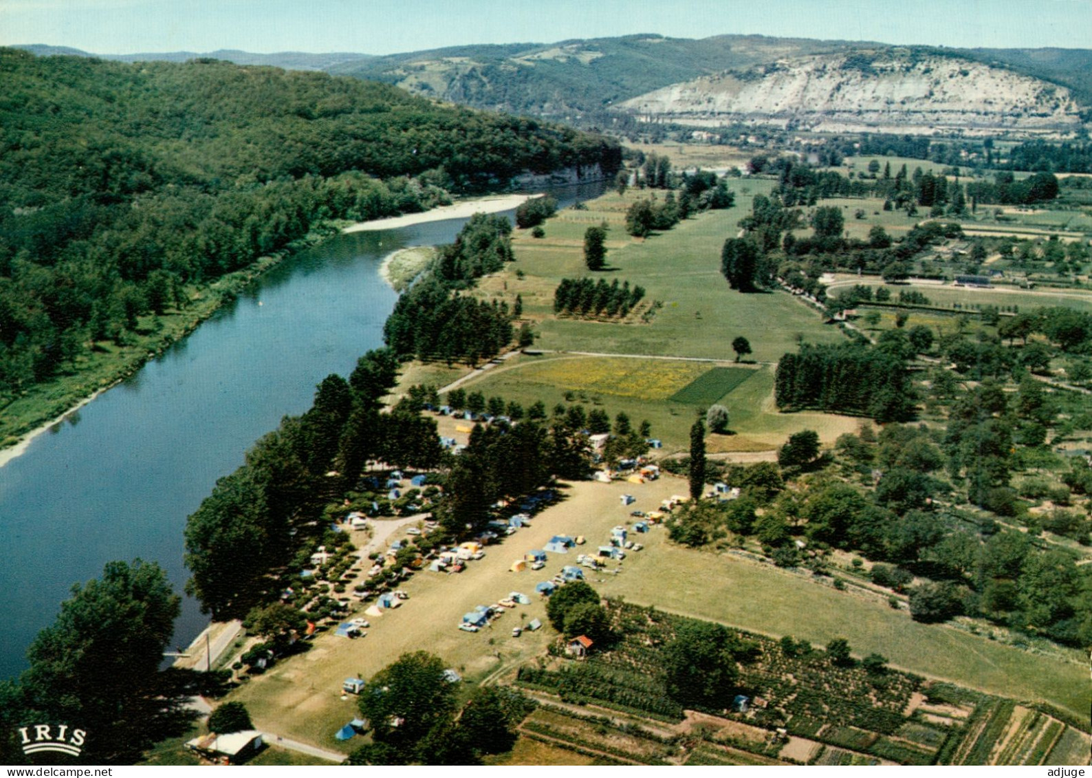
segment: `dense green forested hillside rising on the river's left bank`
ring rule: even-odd
[[[324,220],[620,161],[598,137],[325,73],[0,49],[0,406]]]

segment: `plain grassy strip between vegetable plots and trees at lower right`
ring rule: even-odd
[[[752,632],[794,635],[814,645],[845,637],[855,655],[876,651],[910,672],[990,694],[1042,699],[1078,716],[1088,711],[1087,662],[1077,651],[1066,651],[1067,661],[1059,661],[958,629],[919,624],[879,598],[668,544],[658,531],[642,542],[646,552],[627,558],[626,576],[601,586],[604,594],[624,594],[627,602]],[[667,571],[669,587],[664,586]]]

